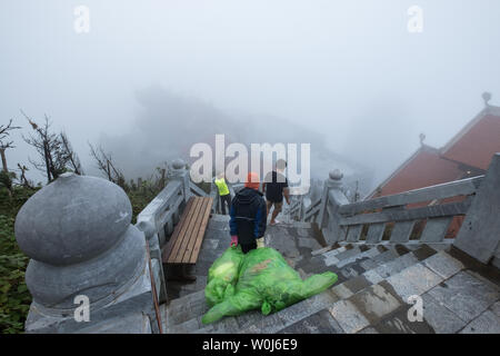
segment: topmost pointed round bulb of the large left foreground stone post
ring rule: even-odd
[[[131,219],[132,206],[123,189],[104,179],[68,172],[21,207],[16,239],[38,261],[71,265],[116,245]]]

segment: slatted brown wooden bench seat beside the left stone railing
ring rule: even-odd
[[[193,265],[197,263],[212,200],[210,197],[191,197],[188,200],[179,224],[163,250],[163,264]]]

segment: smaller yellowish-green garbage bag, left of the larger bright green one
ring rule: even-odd
[[[241,247],[229,247],[209,269],[204,297],[209,306],[221,303],[226,296],[234,294],[241,263],[244,254]]]

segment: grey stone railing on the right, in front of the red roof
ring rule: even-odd
[[[303,218],[318,224],[328,244],[452,243],[482,263],[499,263],[500,154],[486,176],[367,201],[350,204],[341,179],[340,171],[330,172],[321,199]],[[463,222],[456,238],[444,238],[457,217]]]

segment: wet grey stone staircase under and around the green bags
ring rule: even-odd
[[[309,222],[268,226],[266,245],[302,278],[336,273],[332,288],[269,316],[252,310],[203,325],[206,276],[229,246],[227,220],[213,216],[209,222],[194,268],[201,283],[180,287],[179,297],[162,306],[166,333],[500,333],[496,267],[478,265],[449,244],[322,248],[321,234]],[[421,322],[408,317],[411,296],[421,297]]]

